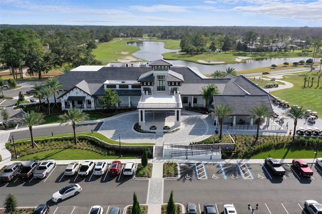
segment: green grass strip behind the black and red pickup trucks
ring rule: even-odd
[[[315,148],[310,147],[291,147],[291,148],[284,148],[284,149],[273,149],[267,152],[262,152],[260,154],[252,156],[251,159],[264,159],[267,157],[273,157],[273,158],[287,158],[287,159],[293,159],[293,158],[316,158],[314,152],[316,151]],[[319,149],[317,154],[322,154],[322,150]],[[318,156],[318,157],[320,157]]]

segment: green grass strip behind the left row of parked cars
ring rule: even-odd
[[[100,155],[92,151],[82,149],[53,149],[43,152],[38,152],[31,155],[19,157],[16,160],[84,160],[84,159],[136,159],[133,156],[123,156],[120,158],[117,156],[105,156]]]

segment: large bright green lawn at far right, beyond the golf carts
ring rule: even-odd
[[[303,75],[307,78],[310,77],[309,87],[303,88]],[[313,80],[313,86],[310,87],[312,77],[315,77],[315,79]],[[322,78],[320,78],[319,87],[317,87],[317,79],[318,77],[316,72],[284,75],[283,80],[293,83],[294,86],[292,88],[272,91],[271,94],[290,102],[291,105],[297,104],[299,106],[303,106],[304,109],[311,110],[313,112],[315,111],[322,116]]]

